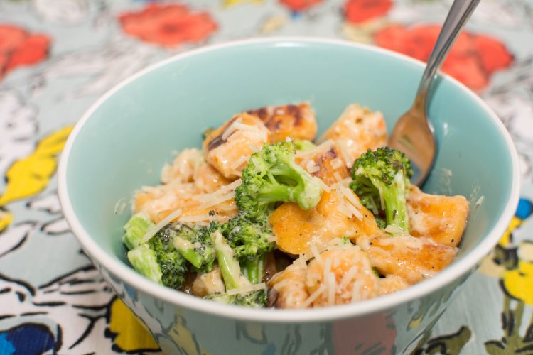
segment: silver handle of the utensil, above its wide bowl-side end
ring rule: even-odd
[[[441,33],[438,34],[437,41],[429,60],[427,61],[426,70],[422,75],[419,88],[416,92],[415,104],[426,106],[426,95],[428,94],[431,81],[434,79],[438,68],[441,67],[442,62],[448,55],[448,52],[456,41],[461,28],[473,13],[475,6],[478,6],[480,0],[455,0],[451,5],[451,9],[446,16],[446,20],[441,28]]]

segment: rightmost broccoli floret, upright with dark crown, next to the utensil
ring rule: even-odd
[[[392,234],[409,234],[406,198],[412,175],[411,163],[401,151],[389,147],[369,149],[355,160],[350,187],[375,214],[381,227],[386,224],[394,227]]]

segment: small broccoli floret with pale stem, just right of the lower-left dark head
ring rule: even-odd
[[[170,236],[174,248],[197,271],[208,273],[215,261],[215,249],[212,248],[210,232],[218,228],[218,224],[214,222],[209,227],[174,223],[166,226],[163,233]]]

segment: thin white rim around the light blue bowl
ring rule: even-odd
[[[502,137],[505,140],[507,149],[510,152],[510,158],[512,163],[512,186],[510,194],[507,197],[507,203],[505,204],[504,211],[500,217],[497,224],[494,226],[492,231],[488,233],[483,241],[473,248],[473,250],[466,253],[460,260],[455,261],[450,266],[446,267],[443,271],[439,272],[431,279],[426,279],[411,285],[404,290],[397,291],[390,295],[384,295],[381,297],[375,297],[370,300],[365,300],[361,302],[354,302],[348,305],[336,305],[330,307],[320,307],[306,310],[277,310],[277,309],[250,309],[245,307],[238,307],[233,305],[221,305],[217,302],[211,302],[207,300],[202,300],[198,297],[191,297],[185,293],[181,293],[177,290],[172,290],[163,285],[154,283],[153,281],[144,278],[143,275],[136,273],[133,268],[127,266],[125,263],[118,261],[113,256],[108,255],[106,251],[98,246],[98,244],[91,238],[90,234],[83,228],[79,219],[75,214],[75,211],[70,202],[68,185],[67,185],[67,170],[68,170],[68,161],[70,157],[70,151],[72,146],[76,141],[78,133],[85,126],[87,121],[90,119],[92,114],[98,109],[98,107],[109,97],[122,89],[130,82],[133,82],[138,77],[145,75],[153,70],[156,70],[158,67],[163,67],[170,62],[175,62],[177,60],[182,60],[183,58],[188,58],[195,55],[201,55],[203,53],[210,53],[217,50],[222,50],[225,48],[235,48],[242,47],[247,45],[257,45],[257,44],[269,44],[275,45],[278,47],[281,46],[305,46],[305,45],[336,45],[344,46],[348,48],[359,48],[361,50],[366,50],[370,52],[377,53],[379,55],[387,55],[389,57],[397,58],[404,62],[410,62],[412,65],[416,65],[424,68],[425,63],[414,58],[410,58],[407,55],[401,53],[393,52],[392,50],[387,50],[384,48],[379,48],[373,45],[365,45],[362,43],[353,43],[348,40],[340,39],[331,39],[331,38],[320,38],[320,37],[269,37],[269,38],[251,38],[246,40],[234,40],[230,42],[220,43],[217,45],[208,45],[202,48],[197,48],[195,50],[189,50],[185,53],[179,53],[178,55],[173,55],[169,58],[156,62],[143,70],[136,72],[136,74],[131,75],[130,77],[122,80],[116,84],[112,89],[109,89],[102,97],[97,99],[93,103],[85,114],[82,115],[80,121],[75,124],[74,129],[70,133],[65,147],[63,148],[63,153],[60,158],[59,168],[58,168],[58,195],[60,204],[63,208],[63,214],[65,219],[67,219],[68,224],[72,228],[72,232],[77,237],[80,244],[82,244],[83,249],[87,252],[87,255],[93,261],[96,261],[97,264],[100,264],[106,268],[109,272],[116,275],[120,280],[129,285],[134,286],[138,290],[141,290],[143,293],[151,295],[156,299],[159,298],[166,302],[169,302],[178,307],[188,308],[196,312],[208,313],[210,315],[215,315],[219,317],[231,318],[235,320],[249,320],[255,322],[278,322],[278,323],[302,323],[302,322],[323,322],[328,320],[340,320],[348,317],[357,317],[361,315],[367,315],[374,312],[389,310],[392,307],[396,307],[405,302],[416,300],[419,297],[433,293],[436,290],[443,288],[444,286],[452,283],[454,280],[461,278],[462,275],[468,273],[468,271],[475,268],[478,262],[488,253],[497,241],[500,239],[502,233],[507,229],[507,224],[512,219],[512,216],[515,213],[515,208],[518,204],[519,199],[519,160],[518,154],[515,148],[512,138],[510,137],[509,132],[505,129],[505,126],[502,124],[500,119],[496,114],[488,107],[485,102],[483,102],[478,95],[470,91],[465,85],[458,82],[458,80],[453,79],[448,75],[440,73],[439,75],[443,77],[444,80],[450,81],[454,84],[459,91],[463,94],[468,95],[470,99],[478,104],[492,119],[492,123],[497,126],[497,129],[502,134]]]

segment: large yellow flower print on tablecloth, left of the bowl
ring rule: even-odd
[[[0,195],[0,206],[41,192],[50,182],[57,168],[57,155],[63,150],[72,126],[43,138],[35,151],[26,158],[17,160],[6,173],[6,190]]]

